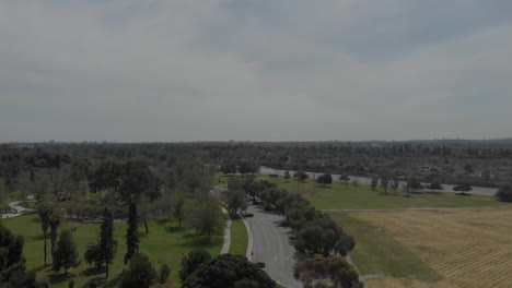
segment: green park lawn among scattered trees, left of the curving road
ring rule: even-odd
[[[55,273],[49,267],[43,267],[43,233],[40,231],[40,224],[36,214],[3,219],[3,224],[7,228],[11,229],[13,233],[23,236],[25,240],[24,255],[26,257],[28,269],[37,272],[38,278],[48,278],[53,283],[51,287],[68,287],[68,280],[71,276],[63,277],[63,271]],[[73,232],[73,236],[82,259],[88,243],[96,240],[100,225],[68,221],[61,224],[59,229],[71,227],[77,227],[77,231]],[[123,259],[126,252],[126,228],[127,225],[125,223],[115,224],[115,238],[119,244],[117,248],[116,259],[114,264],[110,266],[110,277],[104,287],[118,286],[117,277],[124,268]],[[143,226],[139,228],[140,252],[148,254],[156,269],[159,269],[160,265],[163,263],[167,263],[171,266],[171,280],[166,287],[171,287],[172,284],[174,284],[173,287],[177,287],[179,284],[177,275],[182,256],[185,253],[195,248],[203,248],[208,250],[212,256],[217,256],[220,253],[223,243],[222,236],[216,237],[210,243],[207,243],[205,238],[195,235],[193,228],[179,228],[177,220],[151,220],[149,223],[149,230],[150,232],[146,233]],[[48,262],[51,262],[51,257],[49,255]],[[92,267],[88,266],[83,260],[79,267],[70,268],[69,273],[72,276],[75,276],[75,287],[82,287],[88,280],[93,278],[104,277],[103,273],[96,273]]]

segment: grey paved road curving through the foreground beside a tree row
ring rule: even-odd
[[[265,263],[265,272],[279,285],[301,288],[302,284],[293,277],[298,257],[288,240],[291,229],[280,226],[282,216],[254,205],[249,206],[247,213],[254,214],[254,217],[246,218],[254,239],[253,262]]]

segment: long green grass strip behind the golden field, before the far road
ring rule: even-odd
[[[402,191],[397,195],[387,190],[388,195],[382,195],[382,189],[371,191],[370,185],[360,184],[348,187],[341,182],[334,182],[321,187],[307,180],[299,183],[295,179],[288,182],[283,177],[265,178],[270,182],[291,192],[301,193],[313,206],[318,209],[368,209],[368,208],[419,208],[419,207],[480,207],[503,205],[491,196],[468,195],[459,196],[454,193],[432,194],[423,191],[421,194],[411,194],[410,197]]]

